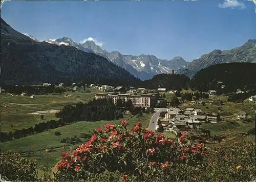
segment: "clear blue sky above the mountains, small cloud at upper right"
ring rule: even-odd
[[[106,51],[197,59],[256,38],[252,2],[11,1],[2,18],[37,39],[93,38]]]

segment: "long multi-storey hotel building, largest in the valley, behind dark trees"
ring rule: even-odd
[[[124,99],[126,102],[131,100],[134,107],[152,107],[157,104],[156,94],[120,94],[120,93],[99,93],[95,94],[96,99],[112,98],[114,104],[116,104],[117,99]]]

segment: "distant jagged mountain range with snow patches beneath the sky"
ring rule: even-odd
[[[122,55],[118,51],[107,52],[102,50],[100,46],[96,45],[92,40],[84,43],[77,43],[69,37],[63,37],[58,39],[47,39],[44,41],[57,45],[70,45],[79,50],[103,56],[141,80],[151,79],[153,76],[161,73],[172,73],[172,70],[176,72],[178,69],[185,67],[188,64],[188,62],[180,56],[171,60],[162,60],[153,55],[142,54],[139,56],[132,56]]]

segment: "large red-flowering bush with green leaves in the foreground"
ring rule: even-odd
[[[62,152],[56,179],[88,181],[95,174],[118,171],[123,180],[151,180],[160,171],[167,175],[169,168],[179,164],[195,166],[202,161],[204,145],[188,145],[185,132],[171,140],[164,134],[142,129],[141,122],[133,130],[127,125],[126,120],[118,126],[105,124],[72,154]]]

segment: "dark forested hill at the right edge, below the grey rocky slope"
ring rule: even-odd
[[[199,71],[190,81],[190,87],[200,92],[208,89],[223,90],[223,93],[256,90],[256,63],[224,63],[209,66]],[[222,83],[221,83],[222,82]],[[224,85],[224,88],[221,86]]]

